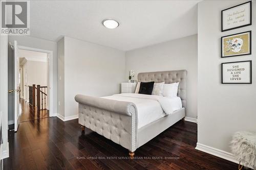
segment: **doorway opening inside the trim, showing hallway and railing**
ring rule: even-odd
[[[47,53],[18,49],[19,122],[49,117]]]

